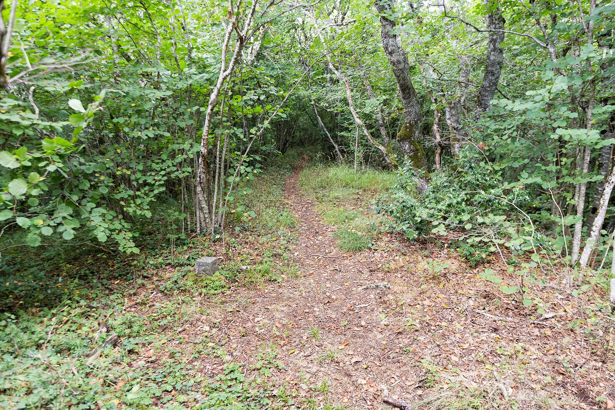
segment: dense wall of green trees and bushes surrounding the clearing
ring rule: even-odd
[[[3,252],[138,253],[161,204],[215,237],[314,141],[399,167],[379,208],[410,237],[585,267],[613,231],[607,1],[0,4]]]

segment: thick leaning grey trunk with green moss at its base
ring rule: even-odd
[[[392,12],[395,1],[375,3],[376,9],[380,14]],[[410,158],[413,167],[417,169],[427,166],[425,151],[419,142],[419,132],[421,130],[421,104],[415,87],[410,79],[410,63],[408,55],[402,47],[402,38],[395,34],[396,25],[394,20],[389,20],[385,15],[380,16],[382,26],[381,36],[383,39],[384,52],[391,63],[393,74],[399,85],[399,92],[402,97],[403,110],[406,120],[402,129],[397,134],[397,144],[403,153]]]

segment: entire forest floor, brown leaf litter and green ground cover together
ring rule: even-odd
[[[304,179],[332,168],[291,163],[257,178],[251,225],[143,251],[115,265],[132,276],[99,278],[98,293],[82,298],[68,271],[111,270],[111,259],[49,258],[65,271],[54,286],[81,293],[2,317],[0,406],[388,409],[390,396],[431,410],[615,407],[612,329],[579,326],[604,295],[573,297],[547,273],[540,315],[478,276],[506,275],[498,258],[473,267],[386,229],[341,250],[330,215],[381,218],[374,193],[311,192]],[[205,255],[222,275],[194,276]],[[106,331],[119,337],[105,345]]]

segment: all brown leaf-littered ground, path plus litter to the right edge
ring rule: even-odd
[[[301,193],[300,170],[285,181],[282,205],[298,221],[289,241],[295,277],[204,302],[207,315],[181,335],[213,337],[227,356],[197,358],[195,369],[223,374],[232,360],[250,377],[265,352],[276,365],[260,376],[299,408],[389,408],[383,396],[432,409],[606,408],[608,396],[613,407],[613,355],[567,326],[582,309],[578,299],[550,293],[555,315],[534,317],[478,277],[484,267],[394,234],[380,234],[377,250],[339,250],[335,226]],[[365,197],[343,207],[368,212]],[[242,243],[256,259],[262,249],[256,239]],[[423,261],[448,268],[429,274]]]

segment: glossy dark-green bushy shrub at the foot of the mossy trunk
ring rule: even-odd
[[[410,240],[432,234],[446,237],[472,264],[495,251],[496,241],[531,248],[526,239],[530,227],[508,220],[510,215],[517,216],[510,203],[528,207],[530,197],[525,191],[506,196],[501,173],[483,161],[478,152],[462,150],[453,164],[456,171],[434,173],[424,192],[417,189],[421,176],[405,164],[396,183],[377,198],[376,210],[391,216],[394,229]]]

